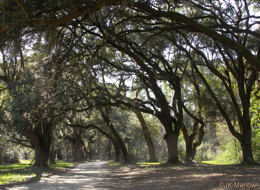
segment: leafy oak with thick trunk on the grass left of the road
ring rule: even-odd
[[[15,43],[13,47],[14,51]],[[48,59],[44,59],[44,53],[36,53],[25,59],[21,43],[18,47],[19,60],[15,52],[10,54],[2,49],[3,80],[6,79],[5,85],[12,97],[9,105],[9,124],[10,127],[16,128],[15,141],[35,150],[34,166],[48,166],[52,128],[56,124],[57,114],[53,105],[58,101],[60,91],[57,90],[57,83],[62,77],[59,64],[64,60],[64,57],[60,57],[62,48],[56,48],[56,54],[52,54]],[[3,48],[8,47],[5,45]],[[57,59],[58,57],[61,60]],[[14,66],[8,66],[11,63]],[[16,135],[19,134],[26,139],[17,138]]]

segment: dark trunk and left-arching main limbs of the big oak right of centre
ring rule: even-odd
[[[117,38],[118,40],[122,41],[122,43],[128,44],[128,41],[122,38]],[[147,75],[140,75],[141,80],[147,87],[147,95],[149,97],[149,89],[151,89],[154,93],[155,99],[152,97],[149,97],[149,100],[151,103],[155,105],[155,107],[160,108],[160,111],[156,110],[153,113],[159,121],[162,123],[163,127],[165,128],[166,134],[164,135],[164,139],[167,142],[167,148],[168,148],[168,162],[178,162],[178,136],[179,132],[182,126],[182,120],[183,120],[183,113],[182,113],[182,100],[181,100],[181,87],[180,87],[180,78],[174,74],[174,72],[171,72],[169,74],[169,80],[168,82],[170,85],[173,86],[175,90],[175,94],[177,97],[177,104],[178,104],[178,117],[173,118],[171,116],[170,107],[168,105],[168,102],[161,91],[160,87],[157,85],[157,78],[155,75],[155,72],[153,72],[150,67],[148,67],[145,62],[149,63],[149,58],[145,57],[144,54],[140,51],[138,51],[136,48],[131,46],[131,51],[129,49],[126,49],[116,43],[114,43],[111,40],[108,40],[108,43],[112,45],[117,50],[124,52],[128,56],[130,56],[135,62],[141,67],[141,69],[145,72],[147,72]],[[141,59],[144,58],[144,60]],[[158,57],[158,59],[161,59],[161,57]],[[168,64],[167,61],[164,61],[161,59],[166,65]],[[151,63],[151,66],[153,66],[154,63]],[[169,65],[169,68],[171,66]],[[160,70],[160,69],[159,69]],[[159,71],[160,72],[160,71]],[[163,73],[165,74],[165,72]],[[155,108],[154,107],[154,108]],[[174,127],[173,127],[174,125]],[[176,138],[176,139],[172,139]],[[173,147],[174,146],[174,147]]]

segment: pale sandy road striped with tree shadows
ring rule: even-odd
[[[77,165],[71,171],[42,178],[39,182],[4,190],[109,190],[104,161]]]

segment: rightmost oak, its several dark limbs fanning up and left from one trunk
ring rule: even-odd
[[[230,132],[241,143],[243,162],[247,164],[254,163],[251,147],[252,129],[250,124],[249,108],[251,92],[258,76],[258,69],[256,67],[249,68],[248,65],[245,64],[245,61],[237,54],[234,54],[235,58],[231,57],[232,54],[230,54],[230,52],[227,50],[225,51],[225,48],[221,49],[217,43],[216,47],[218,47],[219,53],[214,52],[214,59],[208,58],[204,52],[198,48],[197,45],[193,46],[191,43],[189,43],[188,38],[186,38],[186,43],[189,44],[193,52],[196,53],[198,57],[194,59],[195,57],[193,57],[192,54],[187,50],[183,49],[183,51],[190,58],[198,76],[202,79],[205,86],[207,87],[210,96],[215,101],[218,110],[227,122]],[[227,57],[229,57],[229,59]],[[204,63],[205,66],[207,66],[208,69],[214,73],[217,79],[221,81],[223,87],[226,89],[226,98],[229,99],[230,110],[235,111],[234,117],[239,121],[239,132],[232,123],[230,113],[228,113],[229,109],[227,108],[227,105],[224,106],[223,103],[221,103],[222,100],[216,96],[214,93],[214,87],[210,86],[206,77],[202,74],[202,71],[200,71],[199,66],[196,65],[198,62]],[[223,64],[220,65],[219,63]]]

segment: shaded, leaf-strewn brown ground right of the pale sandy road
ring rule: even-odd
[[[239,165],[163,164],[142,168],[128,166],[110,170],[114,190],[220,190],[219,183],[259,184],[260,168]],[[221,189],[223,190],[223,189]]]

